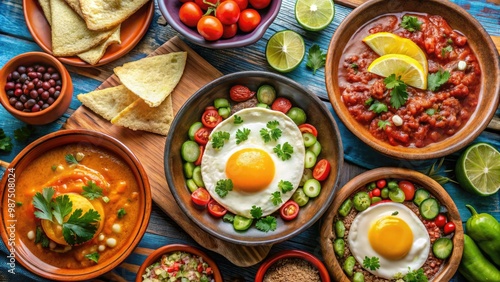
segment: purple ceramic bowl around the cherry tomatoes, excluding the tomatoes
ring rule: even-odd
[[[182,2],[179,0],[158,0],[158,6],[160,8],[161,14],[165,17],[167,22],[180,34],[184,35],[189,41],[212,49],[225,49],[225,48],[236,48],[243,47],[257,42],[267,28],[274,21],[276,16],[278,16],[281,0],[272,0],[271,4],[265,9],[258,10],[262,18],[259,26],[252,32],[243,33],[238,31],[236,36],[228,39],[219,39],[216,41],[205,40],[196,30],[196,28],[190,28],[183,24],[179,19],[179,9],[182,6]]]

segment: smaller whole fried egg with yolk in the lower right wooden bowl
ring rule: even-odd
[[[430,238],[415,213],[399,203],[382,203],[360,212],[347,237],[349,249],[363,265],[365,257],[379,258],[380,268],[371,273],[386,279],[416,270],[427,260]]]

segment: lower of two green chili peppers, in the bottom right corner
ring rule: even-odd
[[[458,271],[468,281],[500,281],[500,270],[486,259],[467,234],[464,234],[464,252]]]

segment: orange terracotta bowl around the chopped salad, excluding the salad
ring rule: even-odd
[[[155,250],[154,252],[152,252],[146,258],[146,260],[144,260],[144,262],[141,264],[141,267],[137,271],[137,276],[135,278],[135,281],[142,282],[143,281],[142,275],[146,272],[146,268],[148,268],[148,266],[152,265],[153,263],[155,263],[157,261],[160,261],[160,259],[163,255],[173,253],[173,252],[186,252],[186,253],[190,253],[190,254],[193,254],[193,255],[196,255],[196,256],[203,258],[203,261],[206,262],[212,268],[212,271],[214,273],[213,277],[214,277],[215,282],[222,282],[223,281],[222,275],[220,274],[219,267],[207,254],[205,254],[203,251],[201,251],[195,247],[192,247],[189,245],[183,245],[183,244],[166,245],[166,246],[163,246],[163,247]]]

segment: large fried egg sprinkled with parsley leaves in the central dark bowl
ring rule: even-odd
[[[277,140],[272,138],[273,129],[281,132]],[[229,138],[224,140],[222,147],[214,148],[214,139],[222,133],[229,133]],[[270,140],[266,142],[263,136]],[[275,148],[283,149],[285,144],[291,146],[293,153],[283,160]],[[304,158],[302,134],[292,119],[278,111],[248,108],[236,112],[214,128],[203,154],[201,172],[212,198],[228,211],[252,218],[250,211],[253,206],[260,207],[262,216],[266,216],[290,199],[299,186]],[[231,180],[233,189],[220,196],[217,182],[227,179]],[[290,190],[281,190],[280,183],[281,186],[286,183]],[[273,197],[276,192],[279,192],[281,202]]]

